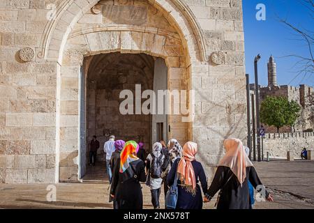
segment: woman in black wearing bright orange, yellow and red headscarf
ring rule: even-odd
[[[140,182],[145,182],[144,162],[137,156],[138,145],[127,141],[114,164],[110,196],[114,209],[142,209],[143,194]]]

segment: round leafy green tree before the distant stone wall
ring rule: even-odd
[[[292,126],[299,118],[301,107],[294,100],[283,97],[267,97],[260,106],[260,121],[275,126],[277,132],[285,125]]]

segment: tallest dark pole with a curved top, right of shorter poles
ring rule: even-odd
[[[255,70],[255,102],[256,102],[256,128],[257,128],[257,160],[261,161],[260,157],[260,89],[258,88],[258,73],[257,73],[257,62],[260,60],[260,54],[254,59],[254,70]]]

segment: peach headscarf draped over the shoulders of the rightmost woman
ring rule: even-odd
[[[226,153],[218,166],[230,167],[242,185],[246,178],[246,167],[253,167],[251,160],[246,155],[242,141],[240,139],[225,139],[223,146],[225,146]]]

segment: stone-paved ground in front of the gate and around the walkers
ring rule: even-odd
[[[314,208],[314,162],[313,161],[271,161],[254,163],[257,172],[268,190],[274,194],[274,203],[257,202],[256,209]],[[103,166],[99,166],[103,168]],[[87,169],[83,183],[59,183],[57,201],[47,201],[47,184],[0,185],[0,208],[112,208],[108,202],[108,182],[104,178],[93,180],[90,173],[98,173],[96,167]],[[149,187],[142,185],[144,208],[151,206]],[[164,194],[160,195],[164,206]],[[204,204],[204,208],[214,208],[216,198]]]

